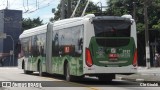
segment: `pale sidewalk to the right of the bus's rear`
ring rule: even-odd
[[[130,81],[160,81],[160,67],[138,67],[138,73],[132,75],[118,75],[122,80]]]

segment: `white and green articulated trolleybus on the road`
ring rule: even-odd
[[[132,16],[70,18],[25,30],[19,37],[24,73],[64,75],[67,81],[137,72],[136,24]]]

